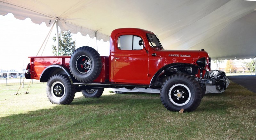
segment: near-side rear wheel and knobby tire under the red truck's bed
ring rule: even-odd
[[[64,74],[52,75],[47,82],[46,92],[52,104],[67,105],[75,97],[74,88],[72,89],[68,76]]]

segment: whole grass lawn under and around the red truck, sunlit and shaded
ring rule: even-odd
[[[0,139],[256,139],[256,94],[230,82],[192,113],[167,111],[158,94],[76,93],[53,105],[46,84],[0,87]],[[22,91],[22,92],[21,92]]]

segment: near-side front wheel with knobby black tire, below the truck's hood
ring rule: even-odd
[[[160,98],[169,111],[192,112],[200,105],[202,92],[199,83],[188,74],[173,74],[160,89]]]

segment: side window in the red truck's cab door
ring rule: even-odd
[[[142,40],[139,36],[135,35],[121,35],[118,37],[119,50],[142,50],[143,45],[139,45]]]

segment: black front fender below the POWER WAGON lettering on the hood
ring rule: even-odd
[[[184,70],[182,71],[178,71],[178,66],[187,66],[187,67],[191,67],[191,70],[189,69],[189,71],[191,71],[191,74],[197,74],[198,73],[198,69],[202,69],[202,70],[206,70],[203,67],[197,66],[197,65],[193,65],[193,64],[187,64],[187,63],[172,63],[172,64],[168,64],[166,66],[163,66],[161,69],[159,69],[154,76],[152,77],[151,81],[150,81],[150,85],[149,87],[155,85],[154,83],[157,82],[158,77],[163,74],[164,72],[170,72],[170,73],[185,73],[185,74],[190,74],[187,73],[186,70],[187,68],[184,68]],[[172,74],[168,75],[171,76]]]

